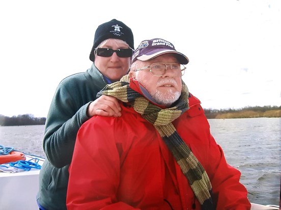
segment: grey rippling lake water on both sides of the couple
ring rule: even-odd
[[[209,119],[228,163],[241,171],[250,202],[279,205],[281,118]],[[44,125],[0,126],[0,145],[44,155]]]

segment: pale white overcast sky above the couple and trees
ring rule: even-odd
[[[95,31],[118,19],[189,58],[183,81],[205,109],[281,105],[281,1],[0,2],[0,114],[46,117],[55,89],[84,72]]]

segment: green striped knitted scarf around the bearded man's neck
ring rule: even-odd
[[[130,102],[137,113],[152,123],[167,147],[173,153],[196,198],[199,200],[202,209],[213,209],[211,198],[212,186],[209,177],[172,124],[175,119],[189,109],[188,89],[186,85],[182,82],[182,92],[179,100],[176,102],[176,106],[161,109],[150,103],[143,95],[132,90],[129,87],[129,82],[128,75],[125,75],[121,78],[120,82],[105,86],[97,94],[97,97],[109,95],[123,102]]]

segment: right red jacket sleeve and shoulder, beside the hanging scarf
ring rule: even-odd
[[[189,118],[182,133],[187,130],[196,140],[190,147],[210,178],[216,209],[250,209],[247,190],[240,182],[241,173],[227,163],[222,148],[211,135],[210,125],[200,101],[191,95],[189,105]]]

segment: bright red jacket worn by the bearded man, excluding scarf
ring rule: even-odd
[[[201,209],[154,126],[128,103],[121,106],[121,117],[94,116],[81,126],[69,168],[68,209]],[[200,101],[191,96],[189,106],[173,124],[205,168],[217,209],[250,209],[240,172],[210,134]]]

